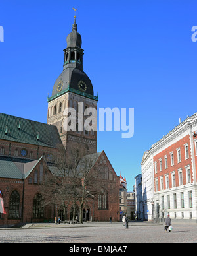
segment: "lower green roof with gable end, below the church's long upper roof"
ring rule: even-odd
[[[41,159],[42,157],[32,161],[24,158],[0,156],[0,178],[26,179]]]

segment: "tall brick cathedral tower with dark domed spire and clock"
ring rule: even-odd
[[[67,48],[64,49],[63,71],[56,79],[52,96],[48,98],[47,123],[56,125],[66,150],[72,148],[75,143],[80,143],[91,154],[97,152],[97,131],[86,129],[79,131],[78,115],[76,129],[73,131],[64,129],[66,108],[74,108],[78,113],[78,103],[83,103],[83,111],[89,107],[97,110],[98,102],[98,97],[94,96],[91,80],[83,72],[82,40],[77,32],[76,16],[74,18],[72,32],[66,38]]]

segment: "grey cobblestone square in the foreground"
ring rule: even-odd
[[[108,224],[35,224],[24,228],[1,228],[1,243],[196,243],[197,224],[175,223],[172,232],[164,224],[121,222]]]

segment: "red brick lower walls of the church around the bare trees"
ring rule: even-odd
[[[112,170],[113,173],[113,180],[105,180],[105,190],[108,193],[108,208],[107,209],[99,209],[98,207],[98,199],[96,198],[94,202],[90,200],[87,205],[89,209],[91,210],[91,216],[93,217],[93,220],[99,220],[99,221],[108,221],[110,216],[112,216],[112,221],[118,221],[119,220],[119,177],[116,176],[116,172],[114,172],[114,169],[112,168],[110,162],[108,161],[108,158],[106,157],[106,154],[102,152],[100,155],[104,156],[106,160],[106,166],[108,166],[109,170]],[[98,163],[100,161],[100,158],[98,160]],[[0,178],[0,190],[3,193],[3,199],[5,202],[5,210],[7,214],[2,214],[0,218],[0,226],[1,225],[12,225],[17,224],[20,222],[39,222],[43,220],[34,220],[33,219],[33,199],[35,198],[35,195],[37,193],[41,193],[41,186],[39,185],[39,170],[40,170],[40,164],[44,164],[44,161],[39,162],[37,166],[32,170],[32,172],[29,174],[28,177],[26,177],[25,180],[23,179],[4,179]],[[33,182],[34,172],[35,170],[38,171],[38,183],[35,184]],[[43,172],[45,172],[46,168],[43,167]],[[29,178],[32,177],[32,184],[28,182]],[[9,219],[9,198],[12,193],[12,191],[18,191],[20,194],[20,218],[17,220],[11,220]],[[24,195],[23,195],[24,193]],[[24,198],[24,207],[23,207],[23,218],[22,218],[22,199]],[[68,208],[68,216],[67,219],[70,220],[70,207]],[[54,214],[55,211],[53,210],[53,207],[46,208],[45,209],[45,219],[52,219],[54,220]]]

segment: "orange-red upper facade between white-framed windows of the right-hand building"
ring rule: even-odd
[[[189,158],[185,159],[185,144],[188,143],[188,154]],[[181,149],[181,162],[178,162],[177,160],[177,148]],[[174,165],[171,166],[171,155],[170,153],[173,152],[174,156]],[[165,169],[165,159],[164,156],[167,156],[167,168]],[[160,158],[162,159],[162,171],[160,172]],[[168,148],[165,148],[162,152],[154,156],[154,163],[157,162],[157,173],[155,173],[155,164],[154,164],[154,178],[158,178],[158,191],[160,191],[160,176],[163,176],[163,182],[164,182],[164,189],[165,187],[165,174],[169,174],[169,188],[172,187],[172,181],[171,181],[171,172],[175,171],[175,182],[176,186],[179,184],[179,176],[177,170],[179,168],[182,168],[182,174],[183,174],[183,185],[186,184],[186,172],[185,172],[185,166],[190,164],[190,177],[191,182],[193,181],[192,177],[192,164],[191,164],[191,151],[190,151],[190,139],[189,135],[181,139],[180,141],[177,141],[177,143],[172,144]]]

